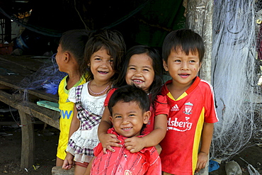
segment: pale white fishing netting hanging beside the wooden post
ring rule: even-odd
[[[256,60],[257,9],[252,0],[215,0],[212,84],[217,115],[211,156],[229,159],[261,129],[260,69]]]

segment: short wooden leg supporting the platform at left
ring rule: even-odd
[[[18,110],[22,125],[21,169],[32,168],[35,163],[35,132],[31,116]]]

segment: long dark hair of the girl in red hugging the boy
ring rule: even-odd
[[[159,94],[161,91],[161,86],[163,85],[163,61],[159,55],[158,50],[154,49],[153,47],[149,47],[147,45],[135,45],[127,50],[125,54],[125,61],[122,68],[122,73],[117,79],[115,86],[120,87],[127,82],[125,81],[125,76],[127,74],[127,67],[130,62],[130,58],[133,55],[139,55],[146,53],[152,59],[152,67],[154,69],[154,81],[152,82],[151,86],[149,87],[149,92],[151,94],[151,105],[154,108],[154,102],[156,99],[156,95]]]

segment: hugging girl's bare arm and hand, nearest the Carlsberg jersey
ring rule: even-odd
[[[144,147],[156,146],[166,135],[166,115],[156,115],[154,120],[154,130],[144,137],[131,137],[125,140],[125,147],[130,152],[139,152]]]

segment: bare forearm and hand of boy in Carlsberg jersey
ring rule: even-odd
[[[210,152],[210,145],[212,140],[214,130],[214,123],[204,123],[203,131],[201,136],[201,147],[198,153],[198,163],[195,168],[195,172],[200,171],[200,169],[205,168],[207,161],[209,159],[208,154]]]

